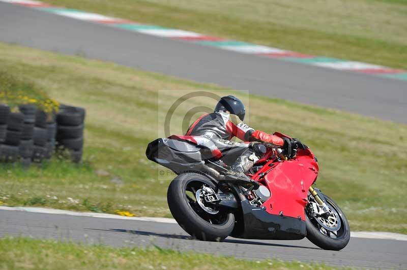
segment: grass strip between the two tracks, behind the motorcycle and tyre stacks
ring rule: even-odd
[[[407,233],[406,125],[4,43],[0,61],[0,69],[87,110],[85,162],[53,160],[28,171],[2,165],[0,204],[170,217],[166,190],[174,176],[161,176],[164,168],[144,152],[164,136],[167,108],[185,93],[177,89],[211,89],[245,100],[247,124],[305,142],[319,160],[317,186],[342,207],[352,230]],[[171,132],[181,132],[191,107],[214,105],[209,98],[183,103]]]

